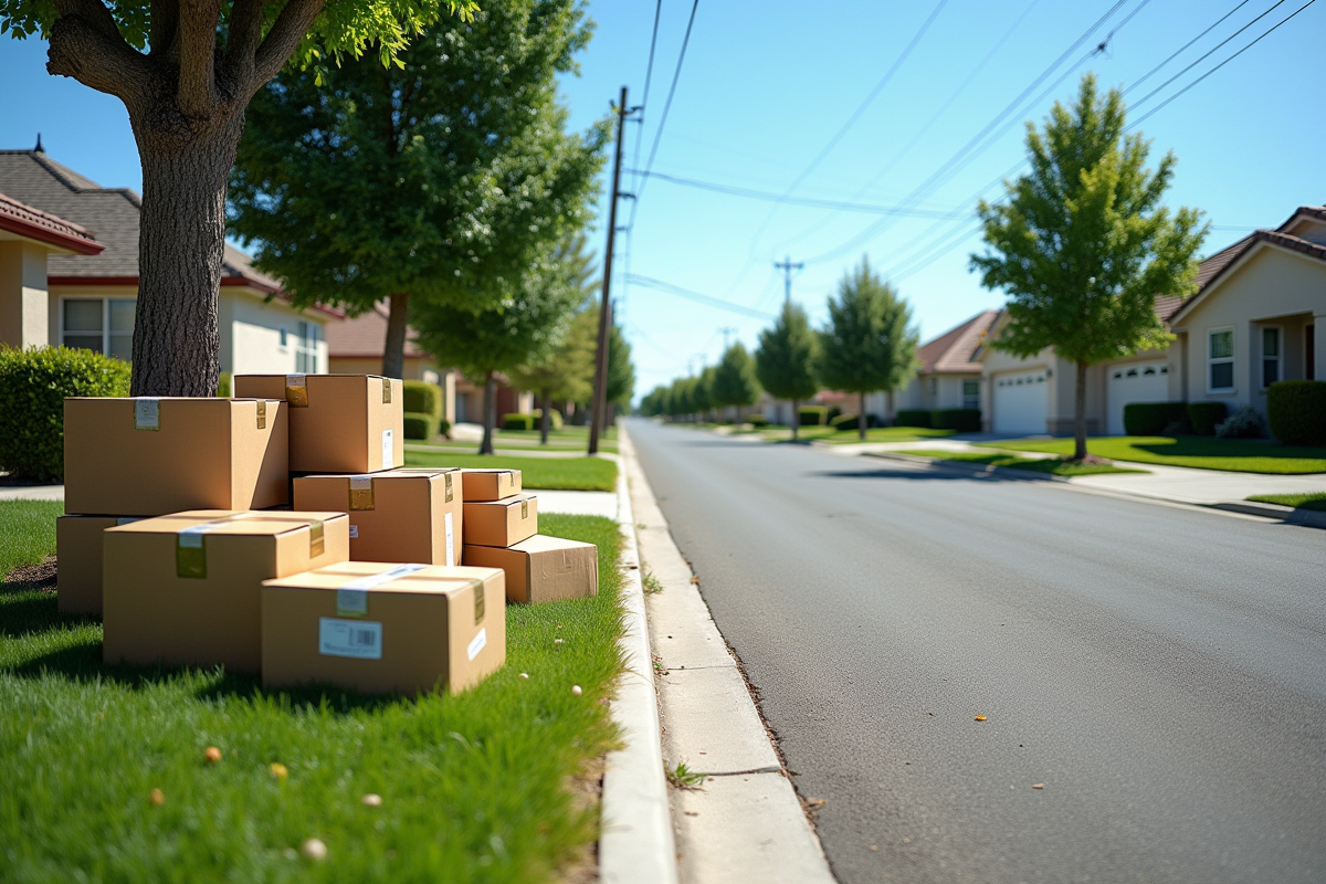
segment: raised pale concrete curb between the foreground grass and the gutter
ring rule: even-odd
[[[619,465],[625,465],[622,460]],[[617,521],[623,531],[625,626],[621,648],[626,673],[613,698],[613,721],[625,746],[607,753],[603,771],[599,880],[610,884],[676,884],[676,846],[663,775],[658,693],[644,619],[644,587],[626,470],[617,474]]]

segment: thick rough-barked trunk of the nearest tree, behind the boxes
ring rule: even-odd
[[[170,114],[163,114],[170,117]],[[215,396],[225,186],[244,114],[182,139],[131,117],[143,166],[134,396]]]

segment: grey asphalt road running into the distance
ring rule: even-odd
[[[1326,531],[630,433],[839,880],[1326,880]]]

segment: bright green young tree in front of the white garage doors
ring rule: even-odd
[[[1073,456],[1083,460],[1086,370],[1174,339],[1155,300],[1193,292],[1208,228],[1196,209],[1160,205],[1174,154],[1148,171],[1150,142],[1123,134],[1123,94],[1102,98],[1094,76],[1073,107],[1055,103],[1042,131],[1026,129],[1032,171],[1005,183],[1005,204],[981,200],[988,248],[971,262],[1009,297],[994,347],[1024,358],[1054,347],[1077,367]]]

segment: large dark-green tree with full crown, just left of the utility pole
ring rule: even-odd
[[[590,32],[577,0],[497,0],[387,68],[288,68],[249,107],[232,231],[297,305],[390,298],[382,372],[399,378],[412,300],[483,307],[587,221],[607,127],[568,133],[557,78]]]

